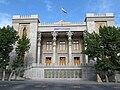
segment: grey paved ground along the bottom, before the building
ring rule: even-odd
[[[0,90],[120,90],[120,84],[88,81],[0,81]]]

